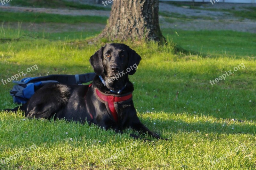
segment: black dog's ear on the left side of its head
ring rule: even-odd
[[[90,63],[92,65],[92,68],[94,69],[94,72],[99,76],[102,75],[104,71],[103,64],[102,64],[103,50],[104,50],[104,47],[101,47],[90,58]]]

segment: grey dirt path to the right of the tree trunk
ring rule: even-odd
[[[256,4],[204,4],[202,9],[217,8],[217,9],[236,9],[245,10],[244,7],[252,7]],[[182,29],[182,30],[232,30],[240,32],[256,33],[256,22],[254,20],[236,18],[229,12],[207,11],[200,9],[188,9],[186,7],[177,7],[165,3],[160,3],[159,11],[173,12],[180,15],[185,15],[188,18],[184,20],[173,18],[172,22],[166,22],[163,17],[160,18],[162,28]],[[210,19],[202,19],[210,18]]]

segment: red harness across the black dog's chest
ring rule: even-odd
[[[109,95],[100,92],[98,89],[95,89],[97,96],[102,100],[101,102],[105,103],[108,106],[107,110],[110,110],[111,115],[114,117],[115,121],[118,121],[117,111],[114,106],[114,102],[124,102],[129,99],[132,99],[132,94],[123,96],[123,95]]]

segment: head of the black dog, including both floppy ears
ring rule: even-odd
[[[136,72],[141,57],[125,44],[107,44],[101,47],[90,58],[94,72],[111,81],[118,81],[113,77],[117,74],[128,77]],[[121,78],[120,77],[120,78]],[[112,79],[111,79],[112,78]]]

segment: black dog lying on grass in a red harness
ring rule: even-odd
[[[105,45],[90,58],[97,74],[91,85],[50,83],[38,89],[28,103],[11,111],[20,108],[26,117],[88,121],[120,133],[131,127],[162,139],[140,122],[132,102],[134,88],[128,74],[136,72],[140,60],[140,55],[125,44]]]

